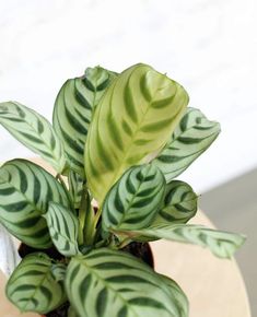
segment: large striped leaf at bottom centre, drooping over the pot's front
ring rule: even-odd
[[[66,290],[81,317],[185,316],[166,282],[122,251],[101,248],[72,258]]]

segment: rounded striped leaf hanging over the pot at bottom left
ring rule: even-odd
[[[8,281],[8,298],[21,312],[47,314],[66,301],[62,283],[51,274],[51,259],[45,254],[26,256]]]

